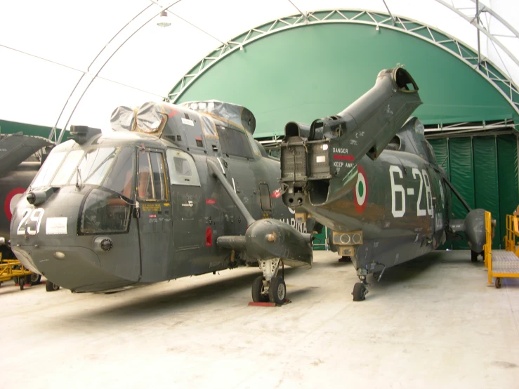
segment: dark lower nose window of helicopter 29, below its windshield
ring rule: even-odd
[[[128,232],[132,208],[117,194],[94,188],[81,210],[80,232],[84,235]]]

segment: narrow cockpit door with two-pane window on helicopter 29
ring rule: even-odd
[[[172,233],[168,197],[164,154],[159,150],[139,152],[137,199],[142,282],[167,279]]]

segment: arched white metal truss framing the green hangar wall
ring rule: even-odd
[[[481,11],[483,11],[483,9]],[[168,94],[168,100],[170,103],[176,103],[178,98],[180,98],[180,96],[189,88],[192,82],[204,74],[204,72],[209,70],[213,65],[225,58],[227,55],[241,50],[251,42],[287,29],[302,27],[305,25],[327,23],[350,23],[372,25],[376,29],[379,29],[380,27],[394,29],[412,35],[413,37],[423,39],[438,48],[442,48],[442,50],[454,55],[454,57],[472,67],[475,72],[478,72],[481,77],[485,78],[490,84],[492,84],[492,86],[494,86],[494,88],[497,89],[497,91],[499,91],[499,93],[501,93],[501,95],[503,95],[503,97],[513,107],[515,113],[519,114],[518,86],[516,86],[511,79],[506,77],[506,75],[502,74],[498,68],[490,62],[490,60],[482,58],[481,55],[478,55],[478,52],[474,51],[468,45],[454,37],[450,37],[444,32],[440,32],[438,29],[409,18],[402,18],[401,16],[381,12],[337,9],[313,11],[306,14],[298,13],[286,18],[272,20],[264,25],[249,29],[249,31],[231,39],[197,62],[197,65],[192,67],[190,72],[185,74],[171,89]]]

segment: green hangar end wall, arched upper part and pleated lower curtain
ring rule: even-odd
[[[251,32],[263,34],[271,28],[264,25]],[[429,32],[435,40],[449,39]],[[415,115],[423,124],[518,123],[499,87],[474,70],[473,60],[456,58],[456,49],[454,43],[434,44],[382,25],[310,23],[265,34],[218,60],[209,55],[170,97],[175,103],[216,99],[244,105],[256,116],[256,138],[281,136],[288,121],[310,123],[340,112],[374,85],[380,70],[400,64],[419,86],[423,105]],[[515,135],[445,138],[432,144],[440,164],[449,156],[447,171],[468,204],[490,210],[497,219],[494,247],[504,247],[504,216],[519,205]],[[455,218],[466,216],[457,199],[453,208]],[[468,249],[464,241],[449,246]]]

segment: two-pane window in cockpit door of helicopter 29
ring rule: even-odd
[[[139,157],[138,197],[165,200],[167,197],[164,157],[161,152],[145,152]]]

